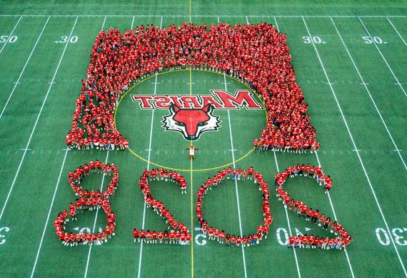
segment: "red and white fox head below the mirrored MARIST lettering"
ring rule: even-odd
[[[206,131],[217,131],[221,126],[221,120],[213,115],[213,105],[204,108],[186,109],[172,104],[169,108],[170,115],[164,116],[163,128],[177,131],[184,135],[186,140],[198,140]]]

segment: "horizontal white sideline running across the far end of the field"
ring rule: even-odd
[[[23,16],[23,17],[41,17],[41,16],[51,16],[51,17],[132,17],[133,15],[121,15],[121,14],[0,14],[0,17],[11,17],[11,16]],[[139,14],[135,15],[137,17],[188,17],[189,15],[161,15],[161,14]],[[245,14],[242,15],[191,15],[191,17],[216,17],[216,16],[223,16],[223,17],[244,17],[247,16]],[[386,17],[391,17],[391,18],[406,18],[407,16],[401,16],[401,15],[381,15],[381,16],[375,16],[375,15],[249,15],[248,17],[270,17],[270,16],[276,16],[276,17],[294,17],[294,18],[303,18],[303,17],[315,17],[315,18],[330,18],[330,17],[337,17],[337,18],[357,18],[357,17],[363,17],[363,18],[386,18]]]

